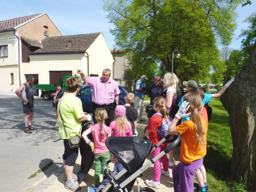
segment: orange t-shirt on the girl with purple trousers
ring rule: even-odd
[[[206,123],[201,118],[204,127],[204,141],[206,143]],[[177,131],[182,135],[181,148],[180,148],[180,161],[191,164],[193,161],[201,159],[206,155],[206,145],[203,150],[196,141],[196,130],[192,120],[185,121],[176,127]]]

